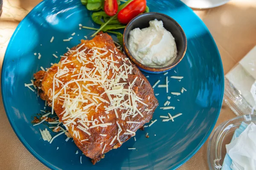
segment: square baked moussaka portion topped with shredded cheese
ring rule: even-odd
[[[38,94],[93,164],[134,136],[158,106],[148,80],[119,48],[101,33],[34,74]]]

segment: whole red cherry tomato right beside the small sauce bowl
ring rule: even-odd
[[[133,0],[117,14],[117,19],[122,24],[129,23],[138,14],[145,11],[146,0]]]

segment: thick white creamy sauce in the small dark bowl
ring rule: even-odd
[[[151,67],[170,65],[177,57],[174,37],[157,19],[149,21],[148,28],[130,32],[128,49],[138,62]]]

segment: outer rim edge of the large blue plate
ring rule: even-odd
[[[45,3],[45,0],[43,0],[43,1],[40,2],[40,3],[38,3],[38,5],[36,5],[36,6],[23,18],[23,20],[26,19],[26,18],[28,17],[28,15],[29,15],[31,12],[35,11],[39,6],[43,5],[43,3]],[[180,1],[180,3],[183,3],[183,2]],[[186,4],[184,4],[184,3],[183,3],[183,5],[186,6]],[[191,8],[189,8],[188,6],[186,6],[186,8],[187,8],[188,10],[194,12],[194,11],[193,11]],[[195,14],[195,16],[198,17],[196,14]],[[216,48],[217,54],[218,54],[218,58],[219,58],[219,60],[220,60],[220,62],[221,62],[221,72],[222,72],[222,79],[221,79],[221,81],[222,81],[222,85],[221,85],[221,88],[222,88],[222,89],[221,89],[221,99],[222,99],[222,100],[221,100],[221,106],[222,106],[222,103],[223,103],[223,96],[224,96],[224,70],[223,70],[223,64],[222,64],[221,56],[220,56],[220,54],[219,54],[218,47],[217,47],[217,45],[216,45],[216,43],[215,43],[215,40],[213,39],[212,34],[210,33],[209,29],[207,28],[207,26],[204,24],[204,22],[203,22],[199,17],[198,17],[198,19],[200,20],[200,22],[201,22],[202,26],[204,27],[204,29],[205,29],[205,30],[207,31],[207,33],[210,35],[210,39],[214,42],[214,48]],[[1,70],[1,93],[2,93],[3,106],[4,106],[4,109],[5,109],[5,112],[6,112],[6,110],[7,110],[6,108],[8,108],[8,106],[6,105],[6,102],[5,102],[6,99],[5,99],[5,97],[3,96],[3,92],[5,91],[5,88],[6,88],[5,85],[4,85],[4,78],[3,78],[3,72],[4,72],[3,70],[5,70],[5,68],[6,68],[6,66],[5,66],[5,65],[6,65],[6,60],[5,60],[5,58],[6,58],[6,53],[7,53],[7,51],[9,51],[9,47],[10,47],[9,45],[12,44],[12,40],[13,40],[13,38],[15,37],[15,35],[17,34],[17,31],[19,31],[20,26],[22,26],[23,20],[20,21],[20,23],[18,24],[18,26],[17,26],[17,28],[15,29],[14,33],[12,34],[12,37],[10,38],[10,41],[9,41],[9,43],[8,43],[8,46],[7,46],[7,48],[6,48],[6,52],[5,52],[5,55],[4,55],[4,58],[3,58],[3,65],[2,65],[2,70]],[[204,136],[204,138],[201,140],[201,142],[198,144],[198,146],[197,146],[188,156],[186,156],[182,161],[177,162],[177,165],[175,165],[175,166],[173,167],[173,170],[177,169],[178,167],[180,167],[181,165],[183,165],[186,161],[188,161],[192,156],[194,156],[195,153],[197,153],[198,150],[199,150],[199,149],[203,146],[203,144],[207,141],[207,139],[209,138],[210,134],[212,133],[212,130],[213,130],[213,128],[215,127],[215,124],[216,124],[216,122],[217,122],[217,120],[218,120],[219,114],[220,114],[220,112],[221,112],[221,106],[220,106],[220,108],[218,109],[218,114],[217,114],[217,116],[216,116],[216,118],[215,118],[215,120],[214,120],[212,126],[210,127],[209,131],[207,132],[207,134]],[[11,120],[11,118],[9,117],[9,113],[6,112],[6,116],[7,116],[8,120],[9,120],[9,123],[10,123],[10,125],[12,126],[12,129],[14,130],[16,136],[18,137],[18,139],[20,140],[20,142],[26,147],[26,149],[27,149],[33,156],[35,156],[36,159],[38,159],[42,164],[44,164],[44,165],[47,166],[48,168],[50,168],[50,169],[59,169],[58,167],[55,167],[53,164],[51,164],[51,163],[45,161],[43,158],[41,158],[41,156],[39,156],[37,153],[35,153],[35,151],[32,149],[32,147],[30,147],[29,144],[26,143],[25,139],[23,139],[23,137],[22,137],[19,133],[17,133],[16,126],[14,125],[14,123],[13,123],[12,120]]]

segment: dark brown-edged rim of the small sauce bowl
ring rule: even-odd
[[[141,62],[139,62],[137,59],[135,59],[135,58],[132,56],[131,52],[130,52],[129,49],[128,49],[128,45],[127,45],[126,42],[125,42],[125,39],[126,39],[126,37],[127,37],[127,36],[126,36],[126,34],[127,34],[126,28],[128,28],[129,26],[131,26],[131,23],[132,23],[134,20],[137,20],[137,18],[142,17],[142,16],[144,16],[144,15],[148,15],[148,14],[159,14],[159,15],[162,15],[163,17],[167,17],[167,18],[169,18],[170,20],[172,20],[178,28],[180,28],[180,31],[181,31],[181,33],[182,33],[182,35],[183,35],[183,40],[184,40],[185,44],[184,44],[183,52],[182,52],[181,56],[179,57],[179,59],[177,60],[177,62],[175,62],[175,63],[173,62],[173,63],[171,63],[171,64],[169,64],[169,65],[164,66],[164,67],[151,67],[151,66],[142,64]],[[125,53],[128,54],[128,57],[130,57],[130,59],[131,59],[136,65],[139,65],[141,68],[144,68],[144,69],[145,69],[145,68],[149,68],[150,70],[155,70],[155,71],[166,71],[166,70],[168,70],[169,68],[175,67],[175,66],[183,59],[183,57],[185,56],[185,54],[186,54],[186,48],[187,48],[187,39],[186,39],[186,34],[185,34],[185,32],[183,31],[183,29],[182,29],[182,27],[180,26],[180,24],[177,23],[177,21],[175,21],[172,17],[169,17],[168,15],[162,14],[162,13],[159,13],[159,12],[148,12],[148,13],[145,13],[145,14],[140,14],[140,15],[138,15],[137,17],[133,18],[133,19],[127,24],[127,26],[125,27],[124,36],[123,36],[123,45],[124,45]]]

